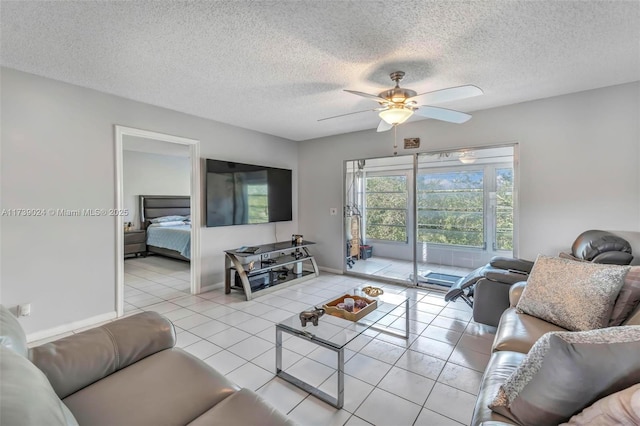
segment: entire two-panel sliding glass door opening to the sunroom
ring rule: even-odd
[[[345,271],[442,287],[513,256],[514,150],[347,162]]]

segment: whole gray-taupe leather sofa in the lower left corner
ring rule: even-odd
[[[2,425],[292,425],[144,312],[31,349],[0,306]]]

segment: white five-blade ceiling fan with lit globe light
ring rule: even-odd
[[[355,90],[345,90],[345,92],[353,93],[354,95],[373,99],[380,104],[378,108],[335,115],[333,117],[322,118],[318,121],[330,120],[332,118],[344,117],[346,115],[359,114],[362,112],[376,111],[381,118],[377,129],[378,132],[385,132],[393,128],[393,126],[404,123],[413,114],[421,117],[447,121],[449,123],[464,123],[471,118],[471,114],[429,105],[418,105],[416,98],[421,97],[422,102],[434,104],[470,98],[482,95],[483,93],[482,89],[479,87],[465,85],[418,94],[414,90],[400,87],[400,80],[402,80],[404,74],[405,73],[403,71],[392,72],[389,77],[391,77],[392,81],[395,81],[396,87],[380,92],[377,95],[371,95],[369,93],[358,92]]]

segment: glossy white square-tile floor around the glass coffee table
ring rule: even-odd
[[[224,289],[191,296],[189,265],[161,257],[125,262],[125,311],[155,310],[171,319],[177,346],[250,388],[302,425],[467,425],[495,329],[471,320],[444,293],[344,275],[320,277],[252,301]],[[347,346],[345,404],[337,410],[275,377],[275,323],[356,286],[375,285],[411,300],[404,340],[370,330]],[[404,308],[384,318],[402,328]],[[335,353],[283,336],[287,371],[335,394]]]

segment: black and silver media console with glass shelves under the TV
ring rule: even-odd
[[[240,290],[251,300],[255,292],[266,294],[317,277],[318,265],[307,249],[314,244],[282,241],[225,250],[224,292]]]

